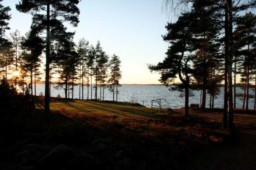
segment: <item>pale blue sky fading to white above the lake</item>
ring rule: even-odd
[[[11,7],[9,32],[16,29],[25,35],[31,25],[31,14],[16,10],[19,0],[4,0]],[[165,57],[168,43],[161,35],[171,21],[162,10],[162,0],[82,0],[79,5],[79,25],[68,23],[69,31],[75,31],[74,41],[85,38],[90,44],[97,41],[108,55],[121,59],[122,84],[159,84],[159,74],[150,73],[148,64],[156,64]]]

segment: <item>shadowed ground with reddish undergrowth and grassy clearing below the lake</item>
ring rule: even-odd
[[[237,111],[233,135],[218,111],[184,119],[183,109],[128,103],[55,98],[50,106],[50,115],[38,102],[35,115],[1,123],[0,169],[256,169],[254,113]]]

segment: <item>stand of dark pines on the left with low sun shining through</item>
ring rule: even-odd
[[[100,42],[93,46],[82,38],[76,45],[75,33],[67,31],[63,24],[78,25],[78,3],[79,0],[20,0],[16,9],[32,14],[31,29],[24,36],[18,30],[6,35],[11,8],[0,3],[1,79],[23,94],[29,87],[30,94],[36,96],[36,82],[44,73],[45,112],[50,111],[53,81],[57,81],[57,88],[64,89],[65,98],[73,98],[74,86],[79,85],[79,99],[104,101],[106,88],[113,93],[113,101],[118,99],[119,57],[114,54],[110,59]],[[44,57],[45,69],[41,70]]]

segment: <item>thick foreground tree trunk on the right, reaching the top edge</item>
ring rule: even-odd
[[[233,17],[232,17],[232,0],[226,0],[227,18],[228,18],[228,58],[227,58],[227,130],[232,131],[234,128],[233,121],[233,96],[232,96],[232,62],[233,62]],[[248,84],[249,85],[249,84]]]

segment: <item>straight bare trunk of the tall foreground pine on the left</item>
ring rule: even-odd
[[[45,94],[44,112],[50,113],[49,76],[50,76],[50,2],[47,2],[47,35],[46,35],[46,64],[45,64]]]

